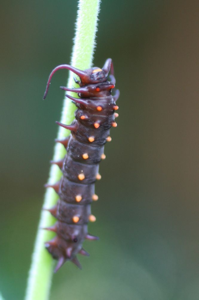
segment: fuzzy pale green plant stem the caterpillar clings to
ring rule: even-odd
[[[100,0],[79,0],[76,33],[72,51],[71,65],[85,70],[91,67],[95,36],[97,32],[97,16],[100,8]],[[74,86],[73,73],[70,72],[67,86]],[[72,95],[72,93],[71,93]],[[75,94],[76,97],[76,94]],[[67,98],[64,99],[61,122],[70,124],[74,119],[75,105]],[[70,131],[60,127],[58,138],[66,137]],[[64,147],[57,143],[54,149],[53,160],[59,160],[65,155]],[[49,183],[57,182],[62,176],[59,167],[52,165],[50,168]],[[44,208],[50,208],[57,202],[57,195],[52,188],[48,188],[45,193]],[[36,236],[32,264],[25,300],[47,300],[50,291],[53,274],[53,259],[45,250],[44,243],[53,237],[53,233],[41,228],[52,226],[55,219],[48,211],[42,211],[39,221],[39,228]]]

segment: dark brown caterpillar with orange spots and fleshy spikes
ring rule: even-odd
[[[71,134],[64,140],[56,140],[62,143],[67,149],[67,154],[62,161],[54,162],[61,169],[63,176],[59,183],[54,185],[46,184],[46,187],[53,187],[59,195],[57,204],[48,209],[57,218],[52,227],[45,228],[56,232],[56,237],[45,243],[45,247],[54,259],[58,259],[55,272],[71,260],[79,268],[81,265],[76,258],[80,253],[89,254],[82,248],[85,238],[97,240],[98,237],[88,234],[88,221],[94,222],[96,218],[91,214],[91,202],[96,201],[95,181],[101,179],[98,173],[99,163],[105,159],[104,144],[111,141],[109,136],[111,126],[116,127],[114,121],[118,116],[115,104],[119,98],[119,90],[114,96],[111,95],[115,87],[113,75],[113,64],[111,58],[105,61],[102,69],[92,67],[87,70],[78,70],[70,65],[57,66],[48,79],[44,99],[47,96],[50,80],[53,74],[59,69],[68,69],[79,76],[79,88],[60,87],[65,91],[73,91],[80,98],[66,95],[77,107],[75,119],[71,125],[56,122],[58,125],[71,130]],[[111,69],[111,81],[108,73]]]

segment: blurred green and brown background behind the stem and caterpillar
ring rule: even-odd
[[[23,299],[68,73],[77,1],[1,5],[0,290]],[[198,1],[102,0],[94,65],[114,61],[118,127],[105,147],[83,270],[50,300],[198,300]]]

